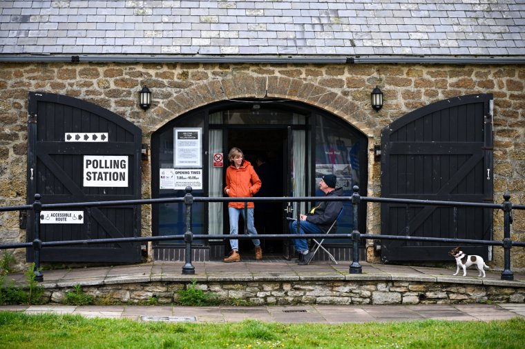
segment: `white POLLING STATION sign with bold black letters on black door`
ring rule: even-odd
[[[127,156],[84,155],[84,187],[127,186]]]

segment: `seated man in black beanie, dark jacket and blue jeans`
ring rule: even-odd
[[[334,175],[324,175],[319,181],[319,189],[325,193],[325,197],[340,197],[343,195],[343,188],[336,187],[337,177]],[[330,229],[336,220],[339,212],[343,208],[341,201],[321,201],[318,206],[312,208],[308,215],[300,215],[300,234],[323,234]],[[336,229],[336,226],[334,228]],[[289,224],[290,234],[297,233],[297,221]],[[294,245],[299,252],[298,263],[304,266],[314,257],[314,252],[308,250],[306,239],[294,239]]]

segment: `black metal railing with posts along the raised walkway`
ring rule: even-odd
[[[32,210],[34,213],[34,239],[26,243],[6,243],[0,245],[0,250],[14,249],[14,248],[32,248],[33,257],[35,261],[35,280],[44,281],[44,276],[41,274],[40,268],[40,251],[42,248],[48,246],[74,246],[74,245],[90,245],[97,243],[123,243],[123,242],[143,242],[143,241],[164,241],[164,240],[184,240],[185,254],[184,266],[182,267],[182,274],[195,274],[195,267],[191,263],[191,244],[194,239],[304,239],[304,235],[296,234],[272,234],[272,235],[248,235],[245,223],[244,235],[194,235],[191,232],[191,212],[192,205],[195,202],[245,202],[245,210],[247,210],[247,201],[277,201],[277,202],[303,202],[303,201],[349,201],[352,203],[353,212],[353,230],[351,234],[308,234],[308,239],[350,239],[352,242],[352,263],[350,264],[349,272],[351,274],[361,274],[362,267],[359,263],[359,241],[361,239],[374,240],[401,240],[401,241],[428,241],[439,243],[455,243],[455,244],[470,244],[481,246],[503,246],[504,248],[504,270],[502,271],[502,280],[513,280],[514,273],[510,270],[510,249],[513,246],[524,247],[525,242],[512,241],[510,239],[510,224],[513,221],[513,210],[525,210],[524,205],[513,205],[510,203],[510,195],[504,194],[504,202],[497,203],[470,203],[461,201],[430,201],[417,199],[391,199],[381,197],[361,197],[359,195],[359,187],[354,186],[353,194],[350,197],[193,197],[191,195],[191,187],[186,188],[186,195],[177,198],[163,198],[163,199],[135,199],[135,200],[119,200],[119,201],[90,201],[77,203],[41,203],[41,196],[35,195],[35,201],[31,205],[21,206],[4,206],[0,207],[0,212],[7,211],[25,211]],[[162,237],[124,237],[124,238],[110,238],[110,239],[82,239],[82,240],[68,240],[68,241],[41,241],[40,239],[40,212],[43,209],[54,208],[88,208],[88,207],[107,207],[107,206],[121,206],[121,205],[150,205],[155,203],[184,203],[185,206],[185,230],[183,235],[169,235]],[[493,210],[502,210],[504,212],[504,239],[502,241],[494,240],[475,240],[475,239],[452,239],[440,237],[412,237],[408,235],[376,235],[376,234],[361,234],[359,232],[359,206],[361,202],[370,203],[405,203],[418,204],[423,206],[451,206],[454,208],[453,220],[455,230],[457,231],[457,208],[458,207],[477,207],[477,208],[491,208]],[[408,208],[407,208],[408,209]],[[300,212],[296,212],[298,221],[298,230],[300,228]],[[246,216],[245,216],[246,217]],[[455,235],[457,236],[457,235]]]

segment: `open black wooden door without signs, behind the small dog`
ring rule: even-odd
[[[381,196],[493,202],[492,94],[439,101],[397,119],[381,134]],[[381,234],[490,239],[492,210],[382,204]],[[381,259],[450,261],[450,244],[381,241]],[[487,258],[488,248],[462,246]]]

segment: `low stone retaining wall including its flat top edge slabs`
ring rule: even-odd
[[[260,279],[265,276],[260,275]],[[522,303],[525,283],[515,281],[445,278],[443,282],[429,282],[431,277],[394,277],[387,275],[291,275],[282,278],[254,280],[251,275],[220,277],[210,275],[178,275],[171,281],[131,282],[112,278],[71,279],[48,283],[45,288],[47,303],[60,303],[66,292],[75,285],[82,286],[86,294],[101,301],[111,299],[117,303],[141,303],[155,295],[160,304],[176,303],[178,290],[184,290],[196,280],[204,292],[213,292],[221,301],[246,301],[257,305],[287,304],[399,304],[399,303]],[[403,285],[400,285],[402,281]],[[463,282],[461,282],[463,281]]]

